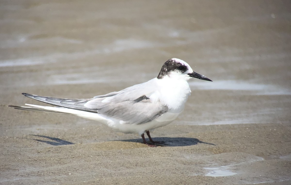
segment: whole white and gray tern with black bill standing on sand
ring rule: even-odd
[[[160,142],[152,140],[150,131],[175,120],[184,110],[191,90],[188,80],[197,78],[212,81],[192,70],[178,58],[167,60],[154,79],[120,91],[97,95],[89,99],[68,99],[32,95],[24,96],[52,106],[25,104],[10,107],[29,111],[44,111],[77,115],[106,124],[113,130],[139,134],[143,143],[151,147]],[[145,140],[145,133],[153,145]]]

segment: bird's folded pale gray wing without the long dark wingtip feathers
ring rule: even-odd
[[[113,96],[97,97],[84,106],[129,124],[150,122],[168,111],[159,99],[151,99],[151,95],[158,93],[154,80],[128,87]]]

